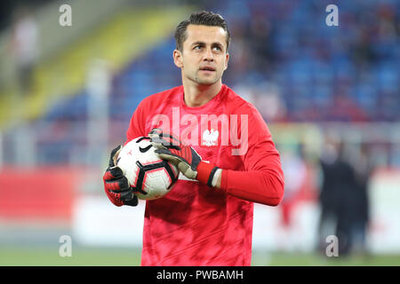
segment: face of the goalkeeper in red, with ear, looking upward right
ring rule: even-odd
[[[228,67],[227,32],[220,27],[188,25],[183,51],[173,51],[183,80],[198,84],[217,83]]]

